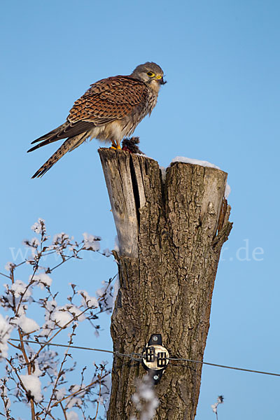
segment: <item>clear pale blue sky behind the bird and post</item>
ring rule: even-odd
[[[279,18],[273,0],[3,4],[1,267],[12,260],[10,248],[24,252],[21,241],[38,217],[51,235],[90,232],[113,248],[98,142],[67,154],[39,180],[31,175],[59,144],[26,151],[64,122],[90,83],[157,62],[168,83],[135,131],[141,149],[162,166],[177,155],[213,162],[232,188],[234,227],[218,268],[204,360],[280,372]],[[113,260],[86,256],[54,277],[94,293],[115,273]],[[81,340],[110,348],[109,318],[100,340],[86,331]],[[210,405],[219,394],[219,419],[276,418],[279,381],[204,367],[197,419],[214,419]]]

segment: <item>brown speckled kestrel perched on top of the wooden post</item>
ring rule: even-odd
[[[86,139],[111,142],[112,148],[120,149],[120,141],[129,137],[147,114],[151,115],[160,85],[165,83],[162,69],[153,62],[140,64],[130,76],[114,76],[93,83],[73,104],[66,123],[32,141],[31,144],[40,143],[28,152],[66,139],[32,178],[43,176],[66,152],[73,151]]]

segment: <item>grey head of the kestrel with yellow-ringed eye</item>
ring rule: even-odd
[[[131,76],[146,83],[146,85],[150,86],[151,89],[156,92],[160,89],[160,85],[165,85],[166,83],[163,79],[162,69],[158,66],[158,64],[153,62],[140,64],[136,69],[134,69],[134,71],[132,71]]]

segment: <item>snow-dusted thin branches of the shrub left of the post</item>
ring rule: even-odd
[[[104,405],[109,397],[106,382],[110,372],[106,362],[100,365],[94,363],[93,369],[87,369],[87,379],[84,367],[80,384],[73,384],[69,374],[76,370],[76,363],[71,361],[70,347],[60,356],[56,351],[49,350],[48,344],[60,333],[64,335],[64,331],[71,329],[68,339],[71,346],[78,325],[85,320],[92,325],[95,335],[99,335],[96,320],[102,312],[111,312],[114,277],[103,281],[96,296],[91,296],[87,290],[78,290],[71,283],[71,295],[61,304],[59,293],[52,291],[50,274],[71,258],[82,259],[85,251],[98,252],[105,257],[111,253],[107,249],[100,251],[101,238],[94,235],[83,234],[83,240],[77,242],[62,232],[51,241],[43,219],[34,223],[31,229],[36,237],[24,241],[30,249],[28,258],[19,264],[8,262],[5,267],[8,274],[0,273],[6,279],[3,285],[5,290],[0,295],[0,306],[7,312],[6,317],[0,314],[0,360],[6,360],[6,375],[0,380],[0,400],[3,405],[0,412],[5,413],[6,419],[14,420],[11,402],[15,398],[29,405],[32,420],[57,419],[59,409],[64,419],[77,420],[80,416],[73,411],[73,407],[80,410],[83,419],[90,420],[92,417],[87,414],[89,404],[95,404],[97,418],[100,403]],[[54,256],[60,261],[45,266],[46,257],[49,260]],[[16,277],[18,270],[23,267],[32,270],[27,281]],[[43,316],[38,311],[43,311]],[[40,323],[41,318],[43,322]],[[10,338],[17,336],[19,344],[15,345]],[[43,343],[42,337],[45,338]],[[31,346],[28,341],[36,344]]]

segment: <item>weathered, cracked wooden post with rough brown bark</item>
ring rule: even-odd
[[[219,255],[232,228],[227,174],[176,162],[162,181],[155,160],[104,148],[99,155],[120,243],[114,350],[141,352],[162,334],[170,357],[203,360]],[[200,363],[169,362],[155,385],[156,420],[195,418],[201,371]],[[141,363],[114,358],[108,420],[137,417],[131,397],[144,374]]]

